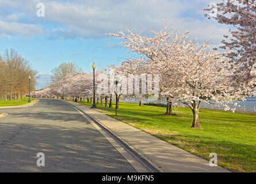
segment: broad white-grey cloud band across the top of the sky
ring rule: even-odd
[[[97,1],[1,1],[0,10],[20,12],[9,17],[0,15],[0,32],[7,35],[28,36],[48,33],[49,39],[90,39],[106,37],[105,33],[131,29],[134,31],[159,29],[166,22],[181,32],[191,31],[193,38],[220,43],[227,32],[224,25],[204,18],[209,3],[220,0],[97,0]],[[45,17],[36,17],[36,4],[45,4]],[[24,18],[24,14],[26,15]],[[17,14],[16,14],[17,15]],[[10,21],[12,20],[12,22]],[[16,22],[15,22],[16,21]],[[2,23],[1,23],[2,22]],[[1,24],[4,26],[2,28]],[[40,25],[40,26],[39,26]],[[48,25],[55,25],[48,28]],[[8,28],[9,27],[9,28]],[[46,32],[48,29],[49,32]]]

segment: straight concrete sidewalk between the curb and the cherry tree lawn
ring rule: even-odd
[[[207,160],[131,127],[124,122],[106,116],[97,110],[75,102],[67,102],[109,128],[166,172],[230,172],[219,166],[211,167]]]

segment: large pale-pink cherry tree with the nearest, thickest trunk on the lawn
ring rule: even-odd
[[[124,39],[129,52],[148,59],[148,65],[160,75],[162,95],[192,109],[192,128],[201,128],[198,118],[201,102],[214,99],[230,110],[228,102],[243,97],[244,89],[231,81],[232,63],[223,54],[209,51],[208,44],[198,47],[198,43],[187,41],[187,33],[179,35],[168,26],[151,33],[152,37],[129,30],[128,35],[123,32],[110,35]]]

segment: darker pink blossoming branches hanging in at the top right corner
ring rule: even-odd
[[[231,58],[235,79],[240,81],[251,80],[251,74],[256,63],[256,1],[255,0],[227,0],[209,6],[209,15],[220,24],[234,26],[230,29],[231,36],[224,35],[221,41],[222,49],[230,49],[228,57]],[[206,17],[211,18],[205,14]]]

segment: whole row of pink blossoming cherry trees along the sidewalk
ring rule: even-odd
[[[201,128],[198,113],[202,102],[211,103],[210,100],[215,100],[217,104],[225,106],[225,110],[234,112],[235,109],[230,109],[228,104],[234,99],[244,99],[253,94],[255,84],[255,5],[254,1],[241,2],[238,1],[239,6],[231,1],[217,4],[217,10],[222,14],[213,18],[220,23],[240,26],[238,32],[231,32],[238,41],[223,41],[225,47],[230,48],[225,53],[212,51],[207,43],[198,44],[189,40],[188,33],[179,34],[178,30],[171,29],[168,25],[158,31],[152,30],[151,37],[130,30],[126,33],[109,33],[123,39],[129,52],[142,57],[96,72],[96,86],[101,89],[97,90],[101,93],[96,95],[101,99],[101,105],[104,98],[107,105],[108,98],[112,99],[114,96],[118,108],[121,95],[124,98],[139,98],[141,105],[144,97],[157,93],[159,98],[167,99],[166,114],[171,114],[172,104],[178,105],[179,102],[188,106],[194,117],[192,128]],[[207,11],[211,12],[212,9]],[[253,11],[254,14],[241,14],[247,11]],[[233,13],[234,17],[225,17],[226,13]],[[113,81],[110,70],[115,74]],[[146,84],[138,82],[143,78],[146,79]],[[135,82],[129,85],[127,79]],[[149,83],[153,79],[159,85]],[[87,98],[87,101],[91,101],[92,86],[92,74],[68,74],[57,86],[44,89],[40,95]]]

